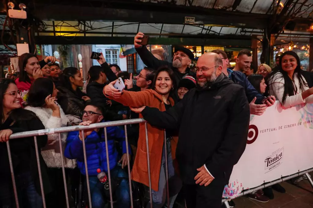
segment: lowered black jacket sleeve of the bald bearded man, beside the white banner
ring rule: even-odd
[[[229,166],[234,166],[244,153],[250,120],[249,103],[244,88],[240,88],[234,96],[229,113],[225,138],[212,158],[205,163],[212,176],[223,175],[223,172],[229,169]]]

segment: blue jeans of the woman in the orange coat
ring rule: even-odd
[[[168,165],[168,189],[169,189],[169,208],[172,208],[177,197],[178,192],[182,189],[182,181],[175,174],[171,142],[167,138],[167,165]],[[162,163],[159,179],[159,191],[152,190],[152,206],[153,208],[161,208],[163,205],[167,207],[167,182],[166,182],[166,164],[165,164],[165,145],[163,145]],[[150,208],[150,203],[147,204],[147,208]]]

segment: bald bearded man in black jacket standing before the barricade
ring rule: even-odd
[[[222,65],[218,54],[205,53],[197,62],[198,86],[181,102],[164,112],[133,109],[153,126],[179,129],[176,158],[188,208],[221,207],[224,186],[246,146],[249,103]]]

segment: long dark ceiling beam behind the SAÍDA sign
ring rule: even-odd
[[[155,4],[158,7],[158,4]],[[178,7],[176,5],[176,7]],[[138,7],[129,7],[136,8]],[[190,7],[192,8],[192,7]],[[32,13],[41,20],[55,21],[122,21],[122,22],[141,22],[141,23],[166,23],[182,24],[185,17],[195,17],[196,24],[202,25],[223,25],[231,27],[246,27],[263,29],[270,19],[269,15],[251,14],[245,12],[230,12],[216,9],[193,10],[188,7],[184,9],[168,8],[164,6],[159,9],[151,8],[135,10],[124,8],[108,7],[88,7],[79,5],[49,5],[36,4],[36,10]],[[55,12],[58,11],[58,12]],[[229,17],[232,17],[231,20]],[[258,22],[258,24],[255,24]]]

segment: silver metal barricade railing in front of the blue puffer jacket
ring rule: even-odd
[[[145,123],[146,147],[147,147],[147,166],[148,166],[148,174],[149,174],[149,189],[150,189],[150,201],[151,201],[150,204],[151,204],[151,208],[152,208],[151,173],[150,173],[150,158],[149,158],[149,146],[148,146],[148,128],[147,128],[146,121],[142,118],[123,120],[123,121],[109,121],[109,122],[95,123],[95,124],[90,124],[89,126],[67,126],[67,127],[54,128],[54,129],[43,129],[43,130],[36,130],[36,131],[19,132],[19,133],[12,134],[10,136],[10,140],[11,139],[17,139],[17,138],[31,137],[31,136],[34,137],[34,143],[35,143],[35,148],[36,148],[37,166],[38,166],[38,174],[39,174],[39,181],[40,181],[40,189],[41,189],[41,194],[42,194],[42,199],[43,199],[43,207],[46,208],[43,181],[42,181],[42,176],[41,176],[41,168],[40,168],[40,163],[39,163],[40,152],[38,151],[37,136],[49,135],[49,134],[58,134],[60,152],[63,153],[60,133],[69,132],[69,131],[82,131],[82,135],[83,135],[82,143],[83,143],[84,162],[85,162],[85,169],[86,169],[86,183],[87,183],[87,190],[88,190],[89,207],[91,208],[92,205],[91,205],[91,196],[90,196],[90,185],[89,185],[89,175],[88,175],[84,130],[95,129],[95,128],[97,128],[97,129],[98,128],[104,128],[105,149],[106,149],[106,159],[107,159],[107,166],[108,166],[108,178],[109,178],[109,188],[110,188],[110,203],[111,203],[111,207],[113,207],[113,196],[112,196],[112,191],[111,191],[112,188],[111,188],[111,177],[110,177],[110,162],[109,162],[109,155],[108,155],[109,151],[108,151],[108,139],[107,139],[106,127],[123,126],[124,125],[125,140],[126,140],[126,153],[127,153],[127,160],[128,160],[127,167],[128,167],[128,178],[129,178],[129,188],[130,188],[130,201],[131,201],[131,207],[134,207],[133,198],[132,198],[133,196],[132,196],[131,171],[130,171],[130,159],[129,159],[129,151],[130,150],[128,148],[127,125],[137,124],[137,123]],[[8,148],[8,157],[9,157],[9,164],[10,164],[10,170],[11,170],[11,176],[12,176],[12,183],[13,183],[13,192],[14,192],[16,207],[19,208],[18,193],[17,193],[17,189],[16,189],[16,181],[15,181],[15,176],[14,176],[14,170],[13,170],[13,163],[12,163],[9,141],[7,141],[7,148]],[[165,132],[164,132],[164,142],[165,142],[164,143],[165,151],[167,151],[167,147],[166,147],[167,142],[166,142]],[[167,204],[169,205],[167,152],[165,152],[165,155],[166,155]],[[69,197],[68,197],[67,186],[66,186],[67,183],[66,183],[66,177],[65,177],[64,155],[63,154],[61,154],[61,163],[62,163],[62,173],[63,173],[66,206],[67,206],[67,208],[69,208]]]

